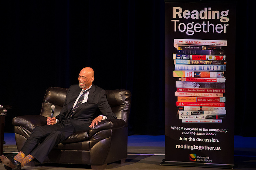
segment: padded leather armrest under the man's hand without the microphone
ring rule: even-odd
[[[89,130],[89,138],[97,132],[105,129],[121,129],[126,126],[123,119],[105,119],[98,123],[97,126]]]

